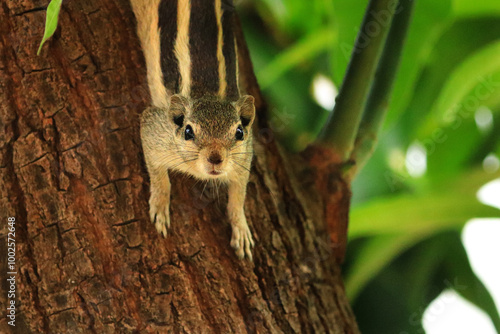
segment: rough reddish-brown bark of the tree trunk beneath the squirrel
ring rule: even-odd
[[[258,98],[245,203],[254,262],[229,246],[224,192],[182,175],[163,239],[148,219],[138,113],[149,97],[128,1],[64,2],[37,57],[47,4],[0,2],[0,332],[357,333],[325,228],[325,213],[346,226],[335,166],[281,150]],[[248,59],[242,71],[259,97]],[[4,315],[9,216],[15,328]]]

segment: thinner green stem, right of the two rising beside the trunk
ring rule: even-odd
[[[399,0],[351,154],[351,159],[356,161],[352,174],[361,170],[377,144],[378,133],[389,109],[392,86],[399,68],[414,2],[415,0]]]

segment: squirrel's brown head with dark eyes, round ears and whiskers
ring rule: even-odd
[[[169,168],[201,179],[245,172],[246,162],[252,159],[252,96],[231,102],[211,96],[191,99],[172,95],[168,118],[175,129],[172,147],[180,157]]]

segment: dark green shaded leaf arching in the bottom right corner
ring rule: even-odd
[[[423,333],[426,307],[447,289],[484,310],[498,330],[493,299],[472,271],[458,231],[426,238],[393,259],[359,294],[354,312],[362,333]]]

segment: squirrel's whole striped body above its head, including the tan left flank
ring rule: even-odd
[[[239,96],[231,0],[131,0],[152,104],[169,97]]]

